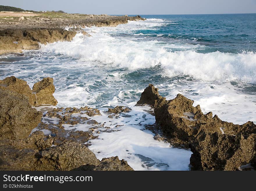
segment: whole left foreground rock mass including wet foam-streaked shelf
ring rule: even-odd
[[[33,94],[36,89],[38,102]],[[52,78],[35,83],[31,90],[27,83],[14,76],[0,80],[0,170],[133,170],[117,156],[98,160],[83,144],[97,137],[90,131],[67,131],[63,125],[98,124],[87,117],[72,117],[74,113],[100,115],[99,110],[83,108],[47,108],[45,117],[58,119],[56,124],[43,121],[43,114],[32,105],[47,107],[54,103]],[[38,91],[37,91],[38,90]],[[32,94],[32,95],[31,95]],[[54,100],[54,101],[53,101]],[[35,127],[43,131],[31,133]],[[68,136],[67,136],[68,134]]]

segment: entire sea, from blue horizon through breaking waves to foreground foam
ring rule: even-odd
[[[57,107],[90,106],[91,117],[114,131],[90,140],[100,160],[118,156],[135,170],[189,170],[189,149],[154,139],[148,106],[134,106],[152,83],[167,99],[183,94],[203,113],[227,122],[256,123],[256,14],[141,15],[116,27],[83,28],[71,42],[0,56],[0,79],[30,87],[54,78]],[[108,118],[109,107],[131,112]],[[76,127],[83,130],[83,126]],[[84,128],[88,130],[88,125]]]

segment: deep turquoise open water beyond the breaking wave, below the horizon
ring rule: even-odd
[[[165,26],[157,30],[138,30],[150,37],[162,35],[168,41],[205,45],[197,52],[242,53],[256,51],[256,14],[221,15],[142,15],[145,18],[164,19]],[[175,51],[175,50],[173,50]]]

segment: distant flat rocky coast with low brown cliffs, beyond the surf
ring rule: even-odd
[[[41,44],[71,41],[77,33],[89,35],[81,27],[117,26],[128,21],[145,20],[140,16],[111,15],[41,15],[17,19],[0,18],[0,54],[39,49]],[[69,27],[66,30],[66,27]]]

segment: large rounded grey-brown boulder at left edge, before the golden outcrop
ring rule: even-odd
[[[31,108],[26,96],[0,89],[0,138],[24,139],[41,121],[42,113]]]

